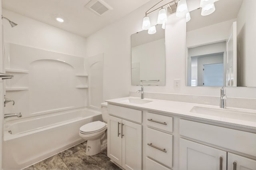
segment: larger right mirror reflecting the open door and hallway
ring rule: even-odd
[[[256,87],[256,0],[218,0],[215,12],[190,12],[186,85]]]

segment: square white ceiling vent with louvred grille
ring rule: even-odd
[[[102,14],[105,14],[109,10],[113,9],[104,0],[91,0],[90,2],[88,2],[88,4],[85,5],[85,7],[89,8],[99,16],[102,16]]]

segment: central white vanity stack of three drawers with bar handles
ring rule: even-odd
[[[172,117],[150,112],[145,112],[145,115],[146,170],[170,170],[173,162],[173,135],[170,134],[173,130]]]

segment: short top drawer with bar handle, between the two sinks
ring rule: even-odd
[[[172,117],[147,113],[147,125],[172,132]]]

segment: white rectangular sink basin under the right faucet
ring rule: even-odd
[[[208,107],[194,106],[190,112],[204,115],[218,116],[242,121],[256,122],[256,113],[236,111],[234,109],[214,109]]]

